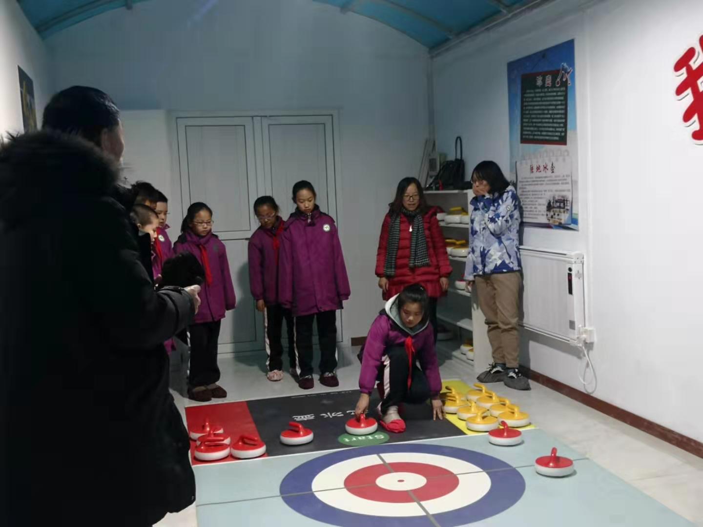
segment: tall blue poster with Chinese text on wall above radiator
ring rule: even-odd
[[[522,221],[579,229],[574,40],[508,63],[510,180]]]

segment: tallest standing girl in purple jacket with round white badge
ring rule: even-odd
[[[293,186],[297,205],[283,228],[278,259],[278,301],[295,316],[298,386],[311,389],[312,325],[317,319],[320,382],[339,386],[337,374],[337,309],[349,299],[349,278],[342,245],[331,216],[315,204],[308,181]]]

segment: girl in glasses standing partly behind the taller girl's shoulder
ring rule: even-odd
[[[290,309],[278,303],[278,253],[285,221],[278,215],[278,204],[271,196],[262,196],[254,202],[254,214],[259,228],[249,240],[249,285],[257,302],[257,310],[264,313],[266,333],[266,379],[283,379],[283,320],[288,330],[288,360],[290,375],[297,382],[295,369],[295,327]]]

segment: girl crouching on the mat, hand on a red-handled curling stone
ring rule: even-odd
[[[400,403],[421,404],[431,398],[432,419],[444,418],[429,303],[421,285],[408,285],[387,301],[374,320],[359,353],[361,396],[356,403],[357,417],[368,410],[373,385],[378,381],[380,424],[387,431],[405,431],[405,422],[398,413]]]

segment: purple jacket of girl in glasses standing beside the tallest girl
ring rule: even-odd
[[[278,217],[273,229],[259,227],[249,240],[249,286],[254,300],[263,300],[266,306],[278,304],[278,258],[283,238],[279,229],[283,225]]]

